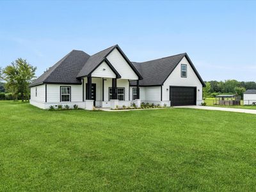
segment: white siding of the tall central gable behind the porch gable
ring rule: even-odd
[[[117,49],[114,49],[109,55],[108,60],[110,61],[111,65],[115,68],[115,70],[120,74],[122,79],[133,79],[137,80],[138,76],[129,66],[129,64],[125,61],[123,56],[118,52]]]

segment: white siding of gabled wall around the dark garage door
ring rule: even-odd
[[[187,77],[181,77],[181,64],[186,64],[188,66]],[[196,76],[186,57],[182,58],[180,63],[173,70],[172,74],[170,74],[166,81],[164,81],[163,100],[170,100],[170,86],[195,86],[196,104],[200,105],[202,103],[202,83]]]

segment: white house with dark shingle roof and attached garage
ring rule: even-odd
[[[182,53],[142,63],[131,62],[118,45],[90,56],[73,50],[32,84],[30,103],[48,109],[59,104],[83,109],[200,105],[204,81]]]

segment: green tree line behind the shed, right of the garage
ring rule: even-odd
[[[219,94],[237,94],[243,98],[243,93],[246,90],[256,90],[256,83],[254,81],[205,81],[203,97],[216,97]]]

